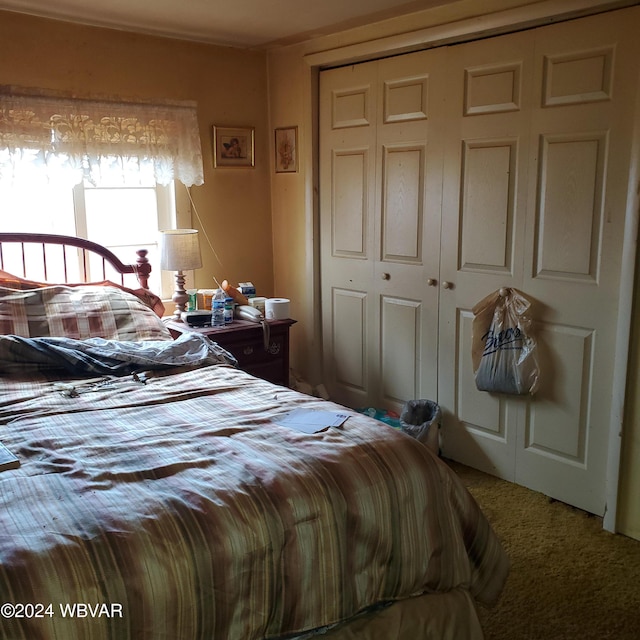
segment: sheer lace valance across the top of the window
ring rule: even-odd
[[[204,182],[194,103],[150,104],[0,90],[0,180]],[[108,178],[106,177],[108,176]],[[115,176],[115,179],[114,179]]]

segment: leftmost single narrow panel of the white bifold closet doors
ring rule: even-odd
[[[331,395],[365,406],[371,388],[370,292],[376,181],[377,65],[321,74],[323,364]],[[374,380],[375,382],[375,380]]]

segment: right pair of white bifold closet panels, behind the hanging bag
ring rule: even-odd
[[[440,302],[445,454],[599,515],[618,428],[611,398],[638,15],[470,43],[449,58],[463,108],[444,172],[442,278],[453,294]],[[474,387],[471,308],[503,286],[534,303],[533,398]]]

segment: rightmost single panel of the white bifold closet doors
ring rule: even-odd
[[[522,413],[516,481],[603,515],[640,9],[536,32],[523,289],[543,378]],[[623,355],[626,357],[626,354]]]

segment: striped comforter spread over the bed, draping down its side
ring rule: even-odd
[[[0,637],[254,640],[468,590],[507,559],[427,447],[226,365],[0,378]],[[20,615],[18,615],[20,614]]]

